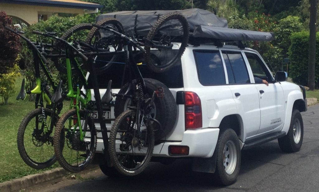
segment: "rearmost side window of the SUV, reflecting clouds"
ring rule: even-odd
[[[194,50],[199,82],[204,86],[226,84],[219,51]]]

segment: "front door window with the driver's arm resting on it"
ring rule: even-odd
[[[261,78],[268,82],[273,81],[269,70],[258,55],[248,52],[245,52],[245,55],[248,59],[254,78]]]

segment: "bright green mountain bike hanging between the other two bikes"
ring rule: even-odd
[[[91,100],[91,91],[87,87],[88,82],[84,71],[81,69],[81,60],[85,61],[88,58],[75,47],[77,39],[74,35],[91,28],[91,24],[80,24],[70,28],[61,38],[48,33],[33,31],[33,33],[54,38],[56,40],[55,48],[59,49],[56,51],[60,55],[65,55],[64,59],[60,57],[59,60],[56,59],[54,62],[60,65],[60,70],[65,69],[67,73],[68,91],[63,94],[61,89],[57,89],[55,99],[59,100],[63,97],[71,99],[70,110],[62,114],[57,122],[53,143],[60,165],[70,172],[79,172],[85,169],[93,160],[96,149],[97,136],[91,118],[94,104]],[[70,38],[71,40],[69,40]],[[85,88],[84,91],[81,91],[79,84],[73,86],[72,71],[79,75],[80,82]]]

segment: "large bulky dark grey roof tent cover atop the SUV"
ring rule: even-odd
[[[194,31],[196,25],[228,27],[225,18],[219,18],[215,14],[202,9],[185,9],[185,10],[164,10],[164,11],[119,11],[113,13],[105,13],[97,16],[96,21],[103,18],[117,18],[126,32],[133,31],[134,35],[146,36],[156,20],[165,13],[179,11],[189,22],[190,32]],[[174,27],[174,26],[171,26]],[[131,30],[127,30],[131,29]],[[128,33],[129,35],[131,33]]]

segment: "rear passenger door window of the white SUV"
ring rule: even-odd
[[[229,84],[250,83],[248,70],[240,52],[222,51]]]

